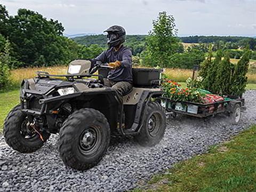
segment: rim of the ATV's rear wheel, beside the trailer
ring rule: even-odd
[[[156,137],[162,125],[161,114],[153,113],[148,119],[148,132],[151,137]]]

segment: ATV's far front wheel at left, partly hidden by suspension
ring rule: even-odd
[[[39,134],[29,125],[28,117],[20,110],[20,105],[14,107],[4,122],[4,138],[6,143],[21,153],[31,153],[41,148],[50,137],[50,133]]]

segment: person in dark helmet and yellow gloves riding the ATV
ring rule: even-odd
[[[123,102],[123,95],[132,89],[132,52],[123,45],[125,42],[123,27],[111,26],[104,32],[108,33],[109,48],[94,61],[108,63],[108,66],[113,67],[108,77],[104,79],[104,84],[115,89],[118,99]]]

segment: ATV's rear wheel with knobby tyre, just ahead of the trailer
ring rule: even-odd
[[[135,140],[141,146],[154,146],[162,140],[165,128],[166,116],[163,107],[157,102],[150,102],[145,109],[144,121]]]

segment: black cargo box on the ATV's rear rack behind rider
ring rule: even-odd
[[[104,78],[108,76],[106,68],[99,69],[99,75]],[[163,69],[153,68],[132,68],[133,86],[137,87],[153,87],[160,85],[161,73]]]

